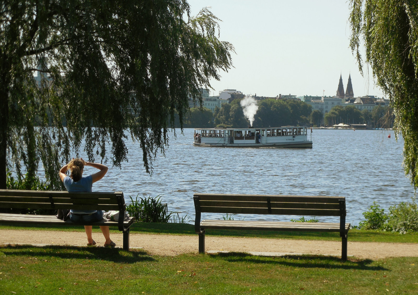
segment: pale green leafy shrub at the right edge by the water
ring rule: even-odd
[[[401,234],[418,232],[417,204],[401,202],[398,206],[390,206],[384,230],[398,231]]]

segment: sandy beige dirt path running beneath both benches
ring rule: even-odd
[[[122,234],[111,234],[117,247],[122,247]],[[97,246],[103,246],[101,233],[93,233]],[[0,244],[33,244],[33,245],[72,245],[85,246],[84,232],[67,231],[26,231],[0,230]],[[130,247],[143,248],[154,255],[178,255],[197,253],[198,237],[166,234],[130,234]],[[357,258],[382,259],[386,257],[418,257],[418,244],[348,242],[349,256]],[[322,254],[341,256],[341,242],[261,239],[241,237],[206,236],[206,252],[234,251],[252,254],[286,255],[286,254]]]

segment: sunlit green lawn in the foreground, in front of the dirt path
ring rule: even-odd
[[[0,247],[1,294],[418,294],[418,257],[150,256],[103,247]]]

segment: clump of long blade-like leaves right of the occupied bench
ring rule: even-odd
[[[137,222],[168,222],[172,211],[168,212],[167,204],[161,203],[161,195],[156,198],[139,198],[136,196],[135,201],[131,198],[132,204],[126,207],[126,211],[130,216],[135,216]]]

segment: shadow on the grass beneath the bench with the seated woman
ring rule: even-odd
[[[142,249],[124,251],[120,248],[106,247],[74,247],[74,246],[45,246],[34,247],[32,245],[6,245],[0,246],[0,252],[6,256],[31,256],[39,259],[98,259],[117,263],[136,263],[143,261],[155,261]]]

